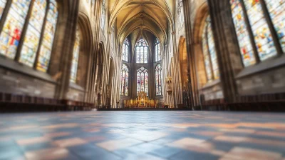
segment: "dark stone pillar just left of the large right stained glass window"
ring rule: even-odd
[[[238,52],[236,47],[231,46],[234,44],[234,33],[232,32],[234,28],[229,1],[208,0],[208,4],[224,100],[233,102],[237,95],[237,84],[234,79],[234,63],[231,54]]]

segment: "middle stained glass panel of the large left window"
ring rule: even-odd
[[[28,29],[21,50],[20,62],[27,66],[33,66],[38,51],[38,43],[41,37],[41,29],[46,13],[46,0],[36,0],[33,3],[31,18],[28,21]]]

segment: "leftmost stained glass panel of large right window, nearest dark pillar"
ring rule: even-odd
[[[256,59],[254,58],[254,51],[249,40],[249,32],[247,31],[247,25],[244,20],[242,4],[239,0],[233,0],[231,1],[231,5],[232,19],[234,20],[234,26],[237,33],[240,53],[242,54],[242,60],[244,66],[250,66],[256,63]]]

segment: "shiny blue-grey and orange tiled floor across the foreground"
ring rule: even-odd
[[[0,159],[285,160],[285,114],[0,114]]]

